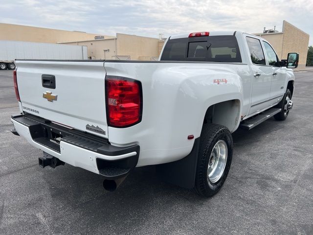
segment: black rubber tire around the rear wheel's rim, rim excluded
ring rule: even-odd
[[[227,145],[227,160],[224,172],[215,183],[208,177],[208,166],[212,150],[218,141],[224,141]],[[201,131],[195,191],[205,197],[216,194],[223,186],[228,175],[233,155],[233,140],[229,130],[222,125],[204,124]]]

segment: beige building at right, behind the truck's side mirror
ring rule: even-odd
[[[283,21],[283,30],[265,30],[263,33],[254,33],[265,38],[275,49],[279,59],[287,59],[289,52],[299,53],[298,70],[304,69],[307,61],[310,35],[301,29]]]

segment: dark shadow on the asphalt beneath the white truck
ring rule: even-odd
[[[232,167],[236,168],[237,154],[240,154],[242,145],[259,141],[270,132],[284,127],[273,119],[262,125],[249,132],[239,129],[233,133],[235,163]],[[37,167],[37,170],[42,172],[49,200],[58,205],[60,210],[62,207],[71,208],[71,212],[60,214],[61,217],[67,217],[67,213],[75,211],[79,218],[84,218],[80,223],[86,223],[86,226],[88,223],[101,223],[110,225],[112,229],[135,227],[139,218],[155,216],[160,211],[163,214],[175,213],[181,210],[181,207],[186,207],[186,210],[192,212],[196,210],[197,205],[223,200],[236,187],[227,184],[226,180],[220,193],[208,200],[196,195],[192,189],[179,188],[160,181],[155,174],[155,167],[145,166],[134,169],[119,188],[108,192],[102,187],[101,176],[80,168],[65,165],[56,169]],[[229,173],[230,177],[233,170]]]

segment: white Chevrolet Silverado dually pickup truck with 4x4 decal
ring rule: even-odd
[[[40,166],[84,168],[111,191],[156,165],[209,197],[227,177],[231,133],[287,118],[298,56],[286,64],[265,39],[232,31],[171,36],[159,61],[16,60],[12,133],[44,152]]]

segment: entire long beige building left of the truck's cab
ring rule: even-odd
[[[163,47],[160,37],[117,33],[116,36],[0,23],[0,40],[60,43],[88,47],[89,59],[156,60]]]

